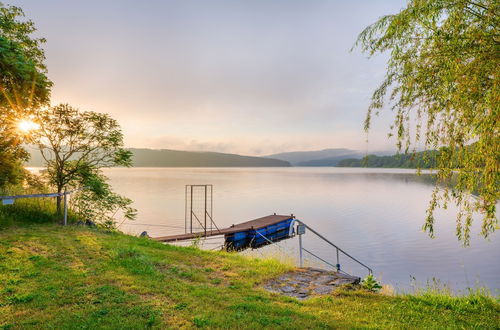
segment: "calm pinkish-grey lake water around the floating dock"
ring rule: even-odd
[[[108,169],[115,189],[132,198],[138,219],[124,223],[129,233],[147,230],[151,236],[184,231],[184,186],[213,184],[213,215],[219,227],[274,212],[293,213],[348,253],[371,266],[377,277],[401,289],[412,278],[424,286],[433,278],[455,291],[471,286],[500,288],[500,237],[478,236],[471,247],[457,241],[453,207],[437,213],[435,239],[421,231],[432,185],[412,170],[346,168],[133,168]],[[205,248],[221,241],[209,240]],[[334,251],[312,233],[304,246],[334,261]],[[247,251],[297,260],[297,239]],[[308,259],[310,265],[320,266]],[[341,259],[343,269],[365,271]]]

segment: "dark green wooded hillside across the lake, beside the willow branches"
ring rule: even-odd
[[[392,156],[368,155],[364,158],[341,160],[339,167],[385,167],[385,168],[433,168],[436,166],[436,151],[398,154]]]

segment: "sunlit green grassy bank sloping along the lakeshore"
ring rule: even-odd
[[[272,260],[162,245],[81,227],[0,231],[0,328],[495,328],[483,296],[362,291],[297,301],[258,287]]]

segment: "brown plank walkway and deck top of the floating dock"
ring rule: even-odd
[[[210,237],[210,236],[218,236],[218,235],[229,235],[229,234],[234,234],[234,233],[239,233],[239,232],[245,232],[249,230],[258,230],[261,228],[266,228],[275,224],[278,224],[280,222],[293,219],[293,215],[268,215],[262,218],[242,222],[239,224],[232,225],[227,228],[223,229],[214,229],[214,230],[207,230],[207,231],[202,231],[202,232],[196,232],[196,233],[186,233],[186,234],[178,234],[178,235],[171,235],[171,236],[162,236],[162,237],[156,237],[154,238],[157,241],[160,242],[175,242],[175,241],[185,241],[185,240],[190,240],[190,239],[195,239],[199,237]]]

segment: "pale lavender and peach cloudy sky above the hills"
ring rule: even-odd
[[[128,147],[395,150],[390,110],[363,131],[387,56],[350,49],[404,1],[2,2],[47,39],[52,104],[109,113]]]

